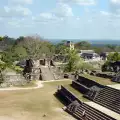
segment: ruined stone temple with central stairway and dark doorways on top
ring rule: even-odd
[[[54,80],[60,79],[60,70],[52,59],[26,60],[23,76],[27,80]]]

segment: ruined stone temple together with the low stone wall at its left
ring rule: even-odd
[[[12,70],[3,71],[2,72],[3,83],[0,84],[0,87],[21,86],[29,83],[31,80],[49,80],[44,78],[44,75],[47,76],[47,74],[43,73],[44,69],[42,69],[42,65],[44,69],[47,69],[49,71],[49,74],[53,75],[55,72],[60,74],[58,69],[54,67],[54,63],[52,60],[47,61],[45,59],[43,60],[28,59],[25,62],[23,74],[18,74]],[[60,76],[59,74],[54,74],[54,79],[59,79],[60,78],[60,77],[58,78],[58,76]]]

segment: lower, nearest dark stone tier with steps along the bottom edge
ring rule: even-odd
[[[64,98],[66,102],[66,111],[74,116],[77,120],[116,120],[105,113],[87,105],[86,103],[82,103],[73,93],[67,90],[65,87],[61,86],[57,92],[60,98]],[[78,102],[79,106],[77,105],[76,111],[71,111],[70,105],[73,104],[75,101]],[[74,106],[76,107],[76,106]],[[83,118],[83,112],[86,113],[86,119]]]

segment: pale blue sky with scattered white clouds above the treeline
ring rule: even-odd
[[[0,0],[0,35],[120,40],[120,0]]]

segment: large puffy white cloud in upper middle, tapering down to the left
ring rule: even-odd
[[[67,4],[59,3],[51,12],[40,13],[40,15],[33,16],[32,20],[46,24],[48,22],[60,22],[68,17],[73,17],[72,8]]]

